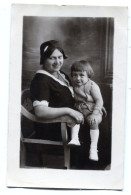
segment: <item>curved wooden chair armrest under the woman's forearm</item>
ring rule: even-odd
[[[75,120],[71,118],[68,115],[57,117],[54,119],[40,119],[36,117],[34,114],[31,114],[24,106],[21,105],[21,114],[28,118],[29,120],[33,122],[39,122],[39,123],[56,123],[56,122],[61,122],[61,123],[75,123]]]

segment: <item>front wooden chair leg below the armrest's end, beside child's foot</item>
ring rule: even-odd
[[[61,135],[64,145],[64,167],[70,169],[70,147],[67,146],[68,135],[66,123],[61,123]]]

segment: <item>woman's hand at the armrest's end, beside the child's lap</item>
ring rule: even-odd
[[[80,112],[69,108],[68,115],[74,118],[77,124],[84,123],[84,117]]]

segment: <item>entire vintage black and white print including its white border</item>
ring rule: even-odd
[[[122,189],[126,9],[12,10],[9,186]]]

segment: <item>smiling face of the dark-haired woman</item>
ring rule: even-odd
[[[58,49],[55,49],[51,56],[45,60],[43,68],[53,74],[61,69],[63,61],[63,54]]]

